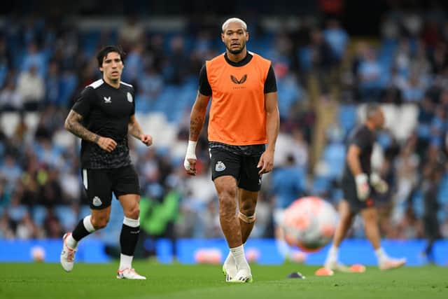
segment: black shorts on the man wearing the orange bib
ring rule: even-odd
[[[210,148],[211,179],[233,176],[239,188],[257,192],[261,188],[261,176],[257,168],[260,155],[237,155],[221,148]]]

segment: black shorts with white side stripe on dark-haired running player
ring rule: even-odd
[[[117,198],[126,194],[140,195],[139,176],[132,165],[111,169],[82,169],[82,176],[91,209],[109,207],[112,192]]]

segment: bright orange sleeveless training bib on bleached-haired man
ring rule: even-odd
[[[248,53],[244,60],[235,64],[219,55],[205,64],[211,91],[211,142],[230,146],[267,142],[265,93],[276,91],[275,83],[271,90],[265,89],[268,75],[273,75],[271,62],[255,53]],[[207,85],[200,84],[201,93],[207,93]]]

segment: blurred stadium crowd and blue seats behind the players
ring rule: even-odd
[[[138,18],[102,31],[36,16],[4,20],[0,238],[59,238],[88,214],[80,144],[64,130],[64,119],[80,90],[99,78],[94,53],[105,44],[127,52],[123,81],[136,88],[137,118],[154,137],[149,149],[130,139],[144,232],[222,236],[205,128],[198,176],[187,177],[182,164],[197,75],[205,60],[223,52],[218,24],[191,22],[182,32],[160,33]],[[336,19],[302,18],[275,30],[248,22],[248,50],[272,60],[281,115],[275,169],[263,178],[253,237],[272,237],[274,209],[297,197],[337,204],[344,141],[367,102],[384,104],[388,118],[374,152],[391,186],[377,198],[381,234],[448,237],[448,19],[437,10],[388,11],[380,26],[381,36],[362,39]],[[425,230],[430,218],[437,223]],[[117,233],[96,235],[118,242]],[[351,236],[363,237],[362,223]]]

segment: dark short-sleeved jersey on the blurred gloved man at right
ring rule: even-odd
[[[373,145],[377,136],[366,125],[356,127],[350,134],[347,142],[347,149],[353,144],[360,148],[359,162],[362,171],[370,175],[372,167],[370,159],[372,158]],[[353,176],[349,164],[345,162],[344,176]]]

